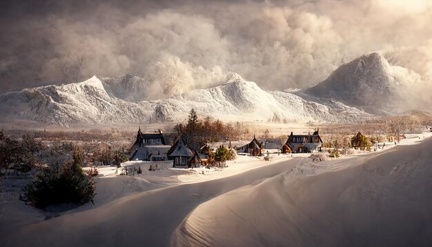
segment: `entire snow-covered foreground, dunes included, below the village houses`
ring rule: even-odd
[[[389,239],[390,233],[405,233],[424,244],[432,229],[431,201],[421,197],[432,188],[432,168],[424,165],[432,164],[432,133],[406,136],[384,150],[322,162],[294,154],[271,155],[271,161],[237,156],[222,170],[173,169],[170,161],[158,162],[156,171],[148,170],[156,163],[122,164],[141,166],[139,177],[99,167],[95,205],[66,213],[26,206],[14,190],[19,183],[1,179],[8,192],[1,193],[0,241],[2,246],[364,246],[374,243],[374,229],[385,229],[377,243],[409,244]],[[391,210],[407,225],[395,229]],[[420,216],[424,220],[415,223]],[[369,238],[361,240],[362,231]]]

